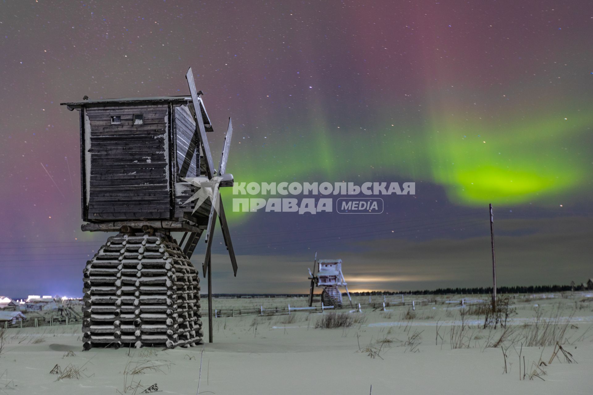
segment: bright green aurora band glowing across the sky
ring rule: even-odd
[[[547,115],[500,125],[477,116],[463,124],[441,116],[434,117],[433,127],[403,131],[384,117],[373,133],[321,119],[311,127],[295,126],[290,136],[300,137],[264,144],[259,156],[235,152],[229,168],[237,182],[362,184],[388,176],[390,181],[433,182],[452,203],[470,207],[546,204],[588,185],[591,158],[583,142],[589,139],[593,116],[576,110],[561,111],[565,116],[541,112]],[[253,143],[250,149],[255,150]],[[225,201],[231,197],[223,194]]]

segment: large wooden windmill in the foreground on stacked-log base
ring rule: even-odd
[[[204,232],[212,341],[217,216],[237,275],[219,193],[233,184],[226,173],[232,123],[216,171],[202,91],[196,91],[191,68],[186,78],[189,97],[62,103],[80,112],[82,230],[118,232],[83,271],[85,349],[201,344],[199,274],[189,259]],[[171,232],[183,232],[181,242]]]

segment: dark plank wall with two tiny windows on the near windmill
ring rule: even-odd
[[[88,220],[169,219],[168,105],[87,107],[85,114],[91,141]],[[143,114],[144,124],[133,125],[133,114]],[[113,115],[120,124],[111,124]]]

